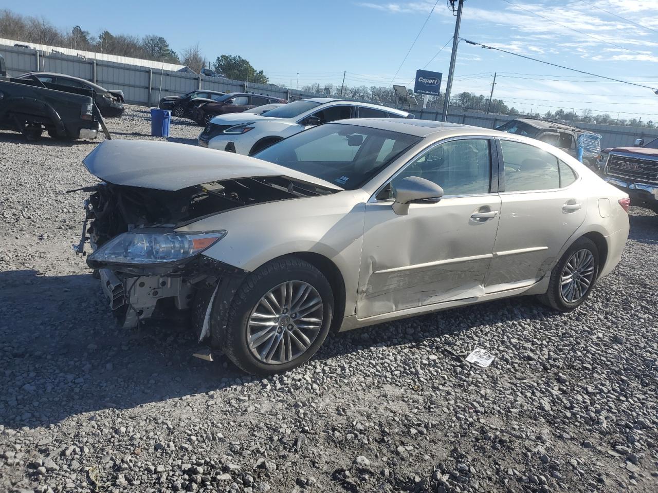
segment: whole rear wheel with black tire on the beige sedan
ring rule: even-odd
[[[570,312],[590,296],[598,273],[599,250],[592,240],[579,238],[553,268],[548,291],[539,299],[554,310]]]

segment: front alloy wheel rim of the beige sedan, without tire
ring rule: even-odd
[[[259,300],[247,322],[247,343],[257,360],[270,365],[304,354],[322,328],[324,310],[318,291],[304,281],[288,281]]]

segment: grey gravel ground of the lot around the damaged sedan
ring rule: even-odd
[[[108,123],[151,138],[147,108]],[[174,119],[170,140],[198,133]],[[184,328],[114,326],[70,248],[94,146],[0,133],[0,491],[658,491],[652,212],[575,312],[515,298],[384,323],[263,379],[193,358]]]

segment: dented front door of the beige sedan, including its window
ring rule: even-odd
[[[500,198],[492,140],[432,145],[368,202],[359,277],[359,319],[484,293]],[[413,203],[398,216],[395,183],[420,176],[443,187],[439,202]],[[493,181],[493,183],[492,183]]]

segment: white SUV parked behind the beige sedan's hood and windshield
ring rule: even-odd
[[[312,126],[347,118],[414,116],[395,108],[370,103],[328,97],[301,99],[261,115],[232,113],[215,116],[199,135],[199,145],[251,155]]]

